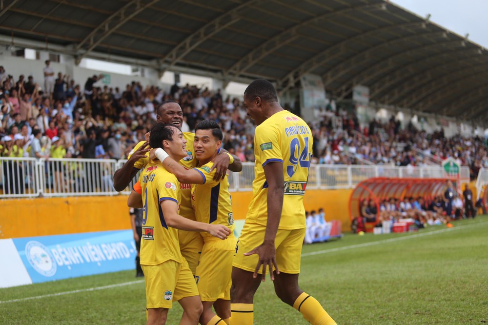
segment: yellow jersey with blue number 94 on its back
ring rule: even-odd
[[[264,166],[283,163],[285,191],[279,229],[305,227],[303,199],[312,156],[313,136],[300,117],[286,110],[273,114],[256,127],[254,135],[255,178],[246,222],[266,225],[268,183]]]

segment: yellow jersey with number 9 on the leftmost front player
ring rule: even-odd
[[[168,260],[183,262],[178,229],[168,227],[160,202],[181,203],[180,182],[161,163],[148,164],[139,177],[142,187],[141,264],[157,265]]]

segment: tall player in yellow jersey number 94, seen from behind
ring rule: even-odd
[[[244,106],[257,124],[255,179],[232,269],[231,324],[253,323],[253,297],[268,269],[283,302],[311,324],[335,325],[320,303],[298,286],[305,237],[303,198],[313,142],[310,128],[280,106],[273,85],[263,79],[246,88]]]

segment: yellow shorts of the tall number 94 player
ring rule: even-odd
[[[305,229],[283,230],[278,229],[275,239],[276,246],[276,264],[280,272],[289,274],[300,273],[300,260],[302,255],[302,246],[305,238]],[[236,245],[236,256],[233,266],[246,271],[254,272],[258,264],[259,257],[257,254],[244,256],[259,245],[263,244],[264,232],[266,226],[257,223],[244,223],[243,231]],[[273,267],[274,269],[274,267]],[[259,269],[259,274],[263,268]],[[266,270],[266,272],[268,272]]]

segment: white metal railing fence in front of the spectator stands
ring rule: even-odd
[[[34,159],[0,157],[0,198],[118,195],[113,174],[124,160]],[[440,166],[397,167],[385,165],[324,165],[310,167],[307,188],[353,188],[371,177],[447,178]],[[251,191],[254,163],[243,163],[231,173],[230,191]],[[469,182],[468,167],[461,167],[460,183]],[[134,180],[121,193],[128,194]]]

